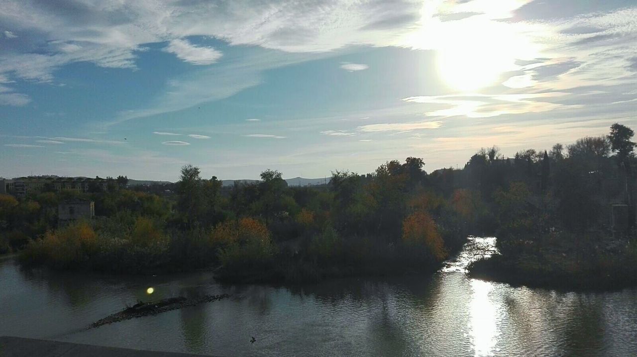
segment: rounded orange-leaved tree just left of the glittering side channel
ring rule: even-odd
[[[424,243],[438,261],[447,257],[436,222],[425,211],[417,211],[403,221],[403,241],[409,244]]]

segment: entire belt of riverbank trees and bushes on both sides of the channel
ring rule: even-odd
[[[496,235],[500,254],[473,276],[514,284],[637,284],[633,130],[504,158],[494,146],[464,169],[424,171],[410,157],[370,174],[333,172],[288,186],[278,171],[223,187],[185,165],[170,190],[0,196],[0,249],[25,265],[154,273],[215,269],[225,281],[315,281],[433,271],[464,237]],[[97,218],[57,225],[57,202],[94,200]],[[3,248],[4,247],[4,248]]]

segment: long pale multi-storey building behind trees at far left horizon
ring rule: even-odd
[[[29,176],[0,181],[0,193],[24,196],[27,193],[64,190],[89,192],[92,189],[106,190],[108,181],[103,178],[61,178],[57,176]]]

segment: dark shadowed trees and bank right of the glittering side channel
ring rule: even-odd
[[[473,263],[471,276],[562,289],[636,286],[632,137],[615,124],[608,136],[521,151],[517,168],[476,154],[476,177],[499,181],[490,197],[500,254]]]

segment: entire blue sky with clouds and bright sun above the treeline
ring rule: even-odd
[[[637,130],[626,0],[0,0],[0,176],[321,178]]]

